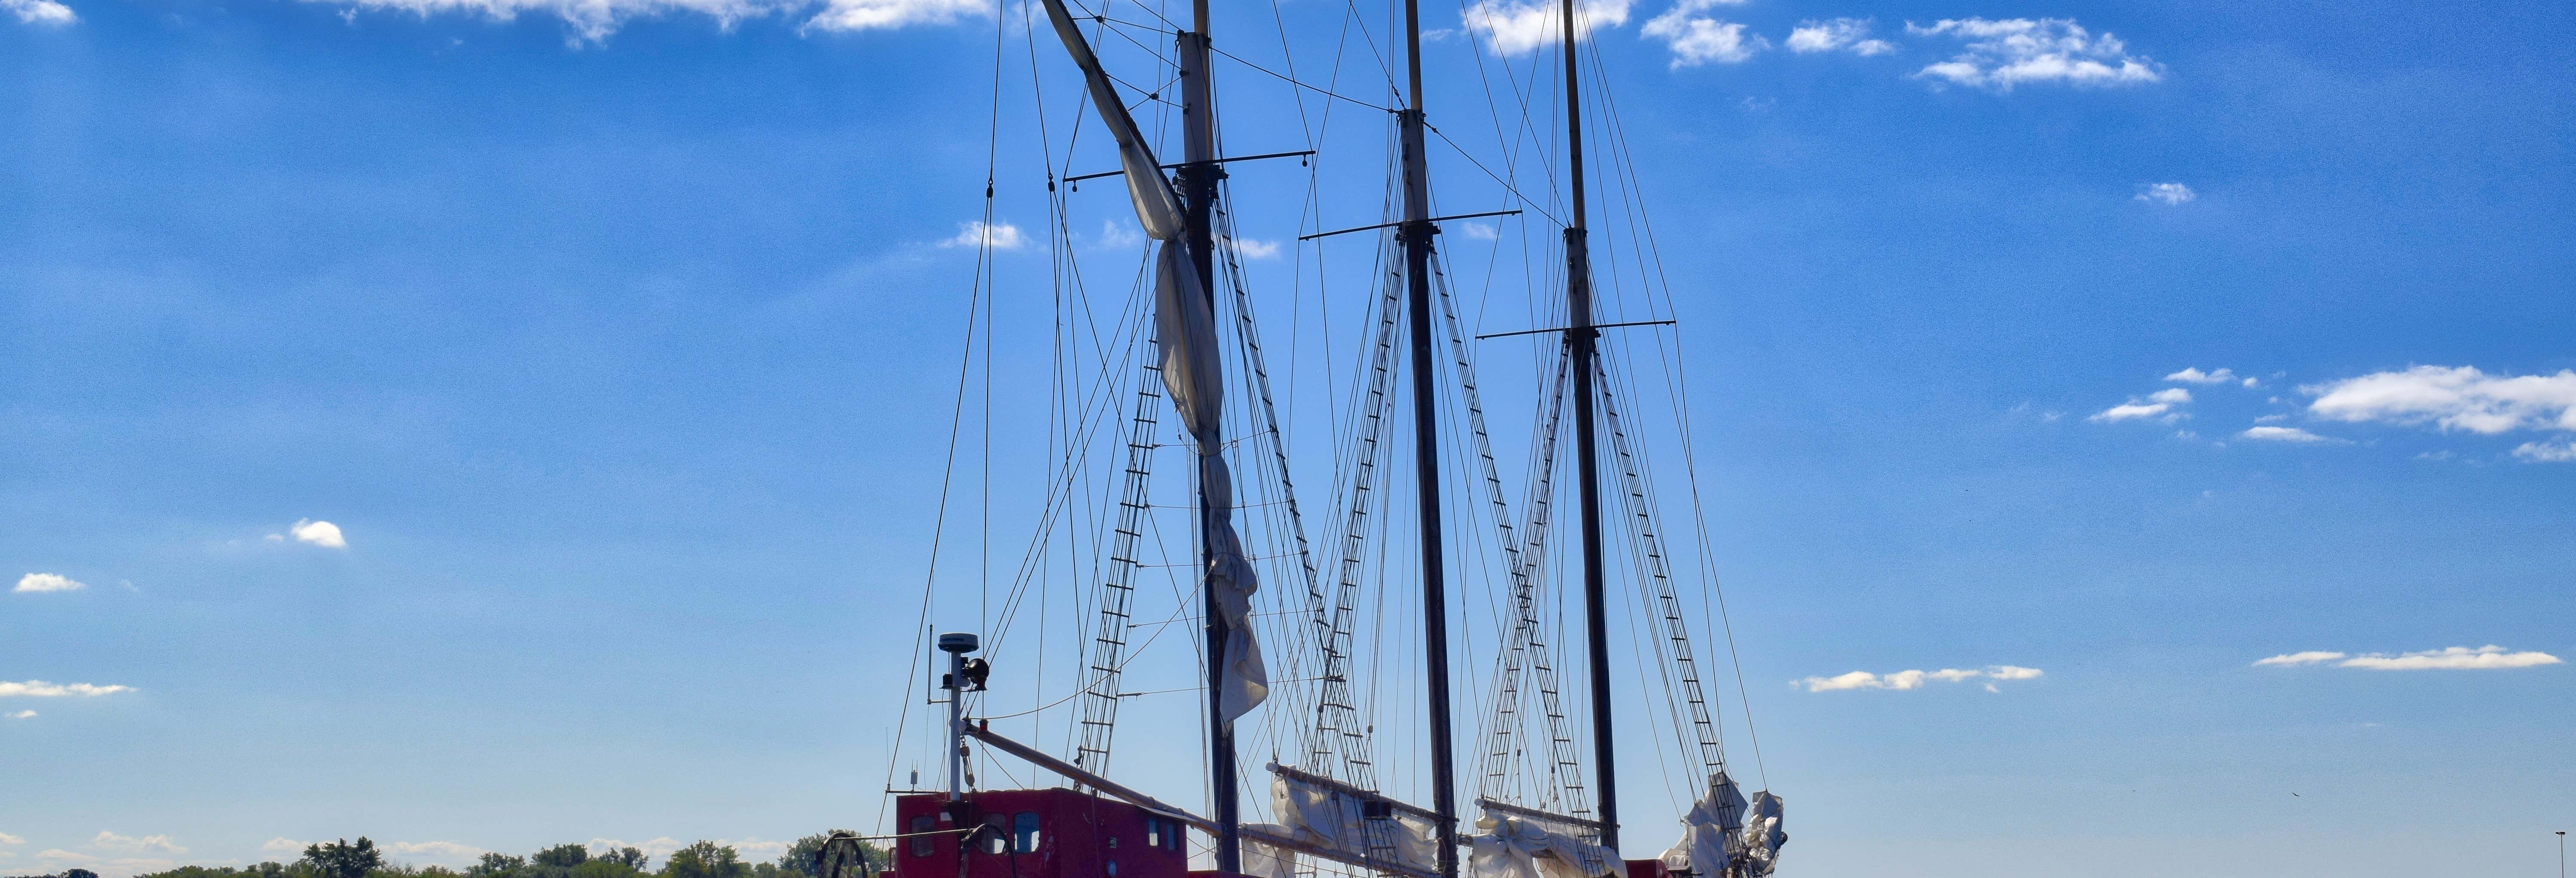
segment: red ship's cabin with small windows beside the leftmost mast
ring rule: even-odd
[[[1185,827],[1079,790],[896,796],[902,878],[1188,878]]]

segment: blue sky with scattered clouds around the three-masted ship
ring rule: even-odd
[[[1425,8],[1450,206],[1507,201],[1463,162],[1504,152],[1473,70],[1533,33],[1489,13]],[[1048,337],[1033,108],[994,111],[1015,15],[0,0],[0,873],[873,824],[976,278],[943,242],[989,147],[997,399],[1043,407],[1012,384]],[[1383,39],[1378,5],[1218,3],[1218,46],[1314,72],[1345,15]],[[2576,13],[1592,15],[1682,319],[1623,350],[1692,368],[1795,873],[2545,873],[2576,824]],[[1340,72],[1383,95],[1365,49]],[[1218,75],[1236,152],[1303,144],[1275,80]],[[1337,113],[1311,175],[1231,180],[1285,252],[1249,265],[1270,314],[1314,306],[1293,234],[1376,221],[1383,126]],[[1355,185],[1301,216],[1311,180]],[[1113,191],[1064,242],[1110,278]],[[1497,232],[1453,260],[1553,234]],[[1535,319],[1497,301],[1476,330]],[[1517,461],[1530,381],[1479,350]],[[1043,448],[999,430],[945,628],[992,623],[1033,515],[1010,474]],[[1667,827],[1672,778],[1623,770]]]

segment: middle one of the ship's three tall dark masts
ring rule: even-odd
[[[1200,0],[1206,3],[1206,0]],[[1458,878],[1458,783],[1450,754],[1448,590],[1440,546],[1440,420],[1432,384],[1432,196],[1422,154],[1422,8],[1404,0],[1404,59],[1412,106],[1396,111],[1404,144],[1404,283],[1414,371],[1414,487],[1422,502],[1422,664],[1430,695],[1432,811],[1440,878]]]

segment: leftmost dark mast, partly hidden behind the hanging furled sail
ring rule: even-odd
[[[1216,162],[1216,93],[1208,85],[1208,0],[1190,3],[1190,31],[1180,33],[1180,124],[1182,124],[1182,239],[1190,245],[1190,270],[1198,273],[1198,291],[1216,312],[1216,180],[1224,170]],[[1200,433],[1200,458],[1224,453],[1218,430]],[[1226,615],[1216,610],[1216,541],[1208,510],[1208,479],[1198,481],[1198,574],[1200,615],[1208,621],[1208,798],[1216,819],[1216,870],[1242,873],[1242,801],[1234,783],[1234,721],[1226,718],[1224,675],[1226,639],[1234,636]]]

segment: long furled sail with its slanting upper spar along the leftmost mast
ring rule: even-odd
[[[1180,422],[1198,448],[1198,484],[1208,541],[1208,592],[1216,597],[1211,613],[1226,621],[1226,654],[1216,680],[1216,708],[1224,721],[1252,713],[1270,698],[1270,669],[1262,664],[1262,646],[1252,636],[1252,592],[1260,579],[1244,559],[1244,541],[1234,530],[1234,471],[1221,456],[1224,435],[1224,384],[1218,373],[1216,314],[1208,291],[1198,283],[1195,260],[1182,234],[1180,201],[1154,162],[1136,118],[1118,100],[1118,88],[1100,70],[1100,57],[1082,39],[1064,0],[1046,0],[1046,21],[1056,26],[1064,51],[1082,67],[1090,85],[1092,108],[1100,124],[1118,142],[1118,165],[1126,173],[1128,198],[1136,203],[1136,224],[1157,239],[1154,252],[1154,337],[1162,345],[1162,386],[1180,409]]]

